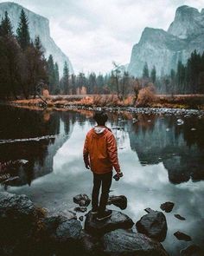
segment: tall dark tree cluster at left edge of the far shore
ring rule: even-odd
[[[1,98],[36,95],[37,83],[47,76],[40,38],[30,40],[29,22],[23,10],[19,20],[16,35],[7,12],[0,24]]]

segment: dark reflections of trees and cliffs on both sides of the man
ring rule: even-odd
[[[0,111],[0,140],[59,135],[54,139],[0,144],[0,161],[29,160],[26,167],[18,170],[21,184],[53,171],[53,157],[67,137],[73,124],[83,128],[86,121],[93,126],[92,111],[31,111],[22,108],[3,107]],[[181,183],[192,178],[204,180],[204,121],[185,118],[177,125],[175,116],[142,115],[129,112],[108,113],[109,127],[119,136],[118,146],[123,147],[126,135],[131,149],[137,152],[142,165],[163,162],[168,170],[169,181]],[[195,128],[192,131],[191,128]]]

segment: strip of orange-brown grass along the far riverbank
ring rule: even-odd
[[[204,110],[204,95],[154,95],[152,99],[136,102],[130,95],[124,101],[117,95],[49,95],[35,99],[7,102],[14,106],[39,108],[178,108]]]

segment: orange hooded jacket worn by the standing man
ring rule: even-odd
[[[93,173],[106,174],[112,171],[112,167],[120,172],[117,143],[109,128],[95,127],[87,133],[83,156]]]

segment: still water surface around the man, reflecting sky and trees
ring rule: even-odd
[[[20,181],[7,187],[9,192],[27,194],[50,211],[75,207],[76,194],[91,196],[92,173],[84,167],[82,149],[86,132],[94,126],[92,112],[1,107],[0,119],[0,161],[29,161],[18,170]],[[173,211],[165,213],[165,249],[179,255],[193,243],[204,248],[204,119],[110,113],[107,126],[117,138],[124,172],[123,179],[112,181],[111,194],[128,198],[124,213],[136,222],[144,208],[160,210],[163,202],[172,201]],[[186,220],[175,219],[175,213]],[[177,240],[176,231],[187,233],[192,241]]]

